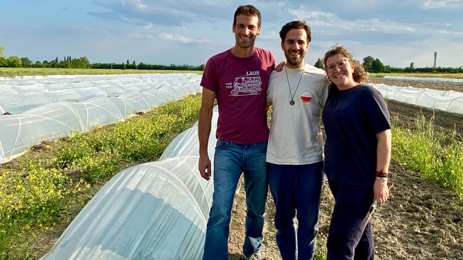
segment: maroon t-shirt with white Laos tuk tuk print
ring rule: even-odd
[[[273,54],[256,47],[247,58],[226,50],[207,61],[201,86],[217,97],[217,139],[239,144],[269,139],[265,93],[274,68]]]

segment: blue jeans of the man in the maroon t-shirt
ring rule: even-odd
[[[244,172],[247,205],[243,254],[248,257],[262,249],[265,201],[269,190],[266,151],[267,141],[256,144],[217,141],[214,194],[207,222],[203,260],[228,259],[233,197],[241,172]]]

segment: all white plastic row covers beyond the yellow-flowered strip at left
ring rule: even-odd
[[[106,76],[109,75],[101,78]],[[136,112],[149,111],[160,104],[195,94],[200,89],[201,77],[197,74],[111,76],[114,78],[109,80],[93,75],[88,78],[85,75],[63,76],[53,78],[58,81],[51,84],[32,84],[34,80],[52,79],[44,77],[0,80],[0,87],[16,91],[0,97],[1,114],[12,113],[0,115],[0,163],[22,155],[45,140],[122,121]],[[80,82],[75,83],[77,80]],[[110,85],[116,80],[121,84]],[[175,84],[168,85],[167,80]],[[105,86],[102,81],[110,83]],[[8,85],[10,83],[15,85]]]

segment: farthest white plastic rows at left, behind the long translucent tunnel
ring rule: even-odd
[[[167,101],[177,100],[188,93],[200,92],[200,79],[198,74],[54,75],[0,79],[0,111],[19,114],[51,102],[81,102],[151,89],[168,92]]]

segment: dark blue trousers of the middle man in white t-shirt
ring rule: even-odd
[[[275,201],[276,243],[283,260],[312,260],[318,234],[323,161],[307,165],[269,163]],[[298,220],[297,233],[294,217]]]

